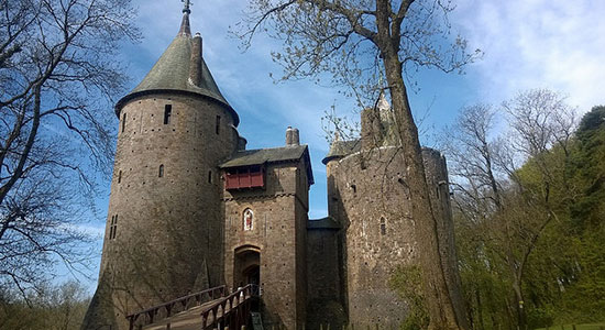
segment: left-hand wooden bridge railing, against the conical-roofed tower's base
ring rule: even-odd
[[[176,298],[168,302],[143,309],[135,314],[127,316],[130,323],[130,330],[134,329],[134,324],[138,320],[143,324],[151,324],[161,319],[168,318],[175,312],[180,312],[189,308],[200,306],[204,302],[208,302],[220,297],[224,297],[228,293],[227,286],[221,285],[212,287],[199,293],[187,295],[180,298]]]

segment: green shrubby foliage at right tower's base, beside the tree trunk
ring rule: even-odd
[[[408,316],[400,324],[400,329],[427,329],[429,315],[425,307],[425,298],[421,295],[422,276],[420,267],[398,266],[389,279],[389,285],[408,306]]]

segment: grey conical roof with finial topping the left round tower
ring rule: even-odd
[[[200,37],[196,35],[195,37]],[[201,40],[200,40],[201,42]],[[116,105],[116,113],[119,114],[131,99],[156,92],[176,92],[210,98],[223,105],[233,116],[234,125],[239,124],[238,113],[231,108],[210,74],[210,69],[200,56],[200,66],[193,63],[194,37],[189,28],[189,12],[184,11],[180,30],[168,48],[162,54],[150,73],[143,78],[130,94]],[[201,79],[196,84],[190,79],[191,70],[201,70]]]

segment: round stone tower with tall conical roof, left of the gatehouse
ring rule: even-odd
[[[186,4],[174,41],[116,106],[99,286],[82,329],[123,329],[128,314],[223,283],[218,165],[243,139],[189,13]]]

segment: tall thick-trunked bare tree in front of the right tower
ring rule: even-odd
[[[448,283],[448,262],[439,253],[405,77],[421,66],[454,72],[474,58],[463,38],[452,41],[447,18],[452,9],[438,0],[255,0],[241,34],[250,42],[255,33],[267,31],[284,41],[284,50],[273,54],[284,66],[284,79],[330,73],[332,81],[350,88],[360,103],[376,99],[378,73],[384,73],[407,165],[430,329],[460,329],[466,322],[449,294],[454,284]]]

